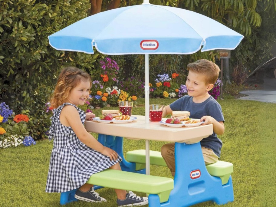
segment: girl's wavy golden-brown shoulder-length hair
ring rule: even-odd
[[[68,97],[70,91],[76,87],[80,81],[89,81],[90,88],[92,86],[90,75],[80,70],[77,67],[66,67],[61,71],[58,77],[57,85],[54,90],[54,94],[51,98],[51,106],[54,108],[64,104],[65,99]],[[89,90],[89,93],[91,91]]]

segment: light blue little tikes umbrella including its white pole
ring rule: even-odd
[[[145,117],[149,122],[149,54],[192,54],[233,50],[243,35],[193,11],[169,6],[128,6],[100,12],[49,36],[57,50],[109,55],[145,54]],[[146,142],[146,152],[149,142]],[[149,151],[147,152],[149,166]],[[149,167],[146,170],[149,174]]]

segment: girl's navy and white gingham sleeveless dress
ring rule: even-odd
[[[61,110],[67,104],[69,103],[54,109],[54,115],[51,117],[49,140],[54,138],[54,147],[51,153],[46,192],[66,192],[77,189],[84,185],[92,174],[103,171],[122,160],[118,155],[117,160],[111,161],[108,156],[80,142],[71,127],[65,127],[60,123]],[[76,109],[84,124],[86,116],[84,111],[78,107]]]

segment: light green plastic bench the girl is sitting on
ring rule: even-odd
[[[90,176],[86,183],[108,188],[157,194],[159,195],[160,202],[168,201],[169,194],[173,189],[173,179],[171,178],[114,169],[106,169],[99,173],[95,173]],[[63,205],[75,200],[70,199],[72,196],[74,196],[73,191],[61,193],[60,203]]]

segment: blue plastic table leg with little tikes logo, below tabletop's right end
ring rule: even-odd
[[[222,185],[219,177],[211,176],[204,163],[200,143],[176,143],[176,176],[169,200],[161,206],[190,206],[205,201],[225,204],[234,200],[232,178]],[[149,198],[150,206],[160,206]]]

